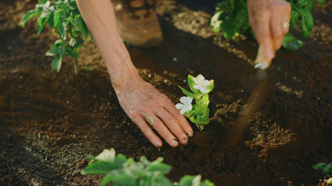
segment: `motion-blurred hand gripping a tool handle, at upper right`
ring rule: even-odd
[[[275,57],[289,31],[291,5],[286,0],[248,0],[249,24],[266,60]]]

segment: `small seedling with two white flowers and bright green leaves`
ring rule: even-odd
[[[180,109],[180,113],[195,123],[200,130],[203,130],[204,125],[210,122],[208,120],[208,106],[210,102],[209,93],[215,87],[214,80],[208,81],[201,74],[199,74],[196,78],[188,75],[187,81],[192,92],[187,91],[186,89],[179,86],[182,92],[187,95],[187,97],[181,97],[181,103],[176,104],[175,107]],[[193,99],[195,99],[194,106],[191,104]]]

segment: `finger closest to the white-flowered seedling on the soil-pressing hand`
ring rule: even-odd
[[[169,99],[165,102],[164,108],[178,121],[182,130],[188,135],[188,137],[192,137],[194,132],[190,124]]]

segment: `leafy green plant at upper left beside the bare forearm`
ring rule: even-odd
[[[58,35],[50,50],[46,52],[47,56],[53,56],[51,62],[52,69],[60,71],[64,57],[71,56],[75,58],[75,73],[78,70],[78,50],[84,41],[90,37],[90,33],[78,10],[75,0],[38,0],[35,8],[29,10],[22,17],[21,25],[25,27],[27,21],[33,17],[37,18],[37,34],[40,34],[46,24],[50,26]]]

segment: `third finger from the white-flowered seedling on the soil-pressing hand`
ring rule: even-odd
[[[158,117],[154,119],[152,126],[171,147],[177,147],[179,145],[179,142],[176,140],[175,136],[168,130],[166,125]]]

